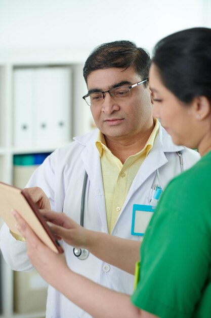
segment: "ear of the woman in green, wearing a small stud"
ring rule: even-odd
[[[193,100],[193,114],[197,119],[204,119],[210,116],[210,101],[205,96],[195,97]]]

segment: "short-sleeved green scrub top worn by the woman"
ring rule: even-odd
[[[161,195],[132,303],[161,318],[211,317],[211,152]]]

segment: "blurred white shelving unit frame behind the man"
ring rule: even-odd
[[[72,137],[81,135],[92,129],[93,121],[88,105],[82,100],[87,92],[82,76],[83,63],[89,52],[74,49],[66,50],[10,50],[0,55],[0,181],[13,184],[13,156],[15,154],[30,154],[52,152],[62,144],[42,145],[36,147],[15,147],[13,141],[13,91],[14,70],[31,67],[61,67],[68,66],[72,74],[72,111],[69,118]],[[0,227],[2,220],[0,219]],[[14,281],[13,271],[3,260],[0,252],[2,309],[0,318],[40,318],[45,312],[18,314],[14,312]],[[0,306],[1,308],[1,306]]]

